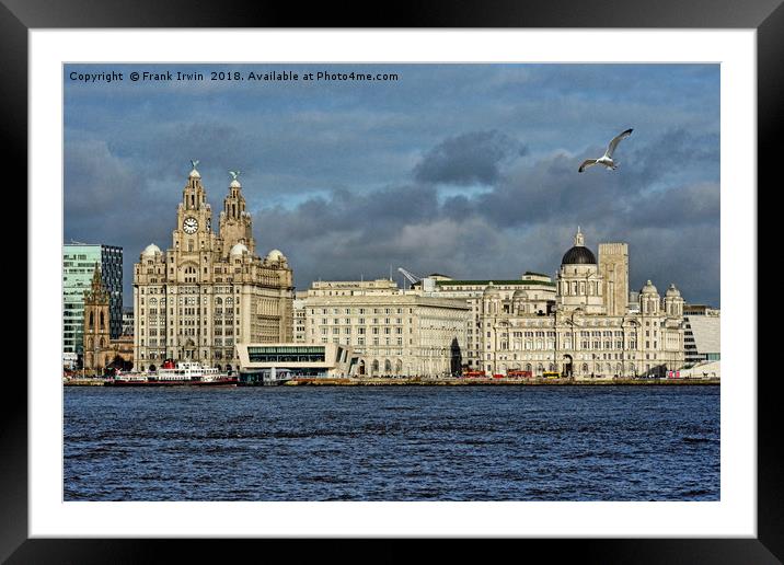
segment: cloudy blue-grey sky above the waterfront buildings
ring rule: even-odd
[[[210,80],[272,70],[300,80]],[[397,79],[302,80],[319,71]],[[124,247],[126,304],[141,250],[171,246],[198,159],[214,210],[242,171],[257,250],[283,251],[298,289],[390,268],[402,285],[399,266],[554,275],[580,226],[595,252],[629,243],[632,289],[720,305],[717,65],[71,65],[64,80],[65,241]],[[630,127],[616,171],[577,173]]]

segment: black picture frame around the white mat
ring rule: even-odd
[[[350,22],[350,24],[349,24]],[[784,123],[784,5],[781,0],[555,0],[531,2],[396,2],[380,7],[339,8],[315,4],[308,11],[289,4],[261,2],[120,0],[0,0],[0,100],[4,137],[10,141],[3,161],[8,187],[27,186],[27,32],[33,28],[132,27],[552,27],[552,28],[752,28],[757,30],[758,173],[772,184],[782,149],[779,124]],[[781,183],[777,183],[776,187]],[[759,194],[758,187],[750,187]],[[53,191],[55,191],[53,188]],[[24,205],[22,205],[24,206]],[[32,221],[28,216],[28,221]],[[758,222],[759,224],[759,222]],[[759,256],[759,255],[758,255]],[[28,261],[33,258],[27,257]],[[757,288],[757,273],[753,286]],[[27,295],[27,303],[34,299]],[[754,295],[756,298],[756,295]],[[749,308],[757,308],[756,303]],[[758,349],[759,350],[759,349]],[[27,355],[34,355],[27,343]],[[364,562],[410,560],[404,544],[382,540],[347,545],[341,540],[132,540],[28,539],[27,533],[27,383],[15,373],[3,376],[0,393],[0,560],[8,563],[155,563],[176,555],[224,562],[250,550],[255,558],[283,550],[302,561],[304,552]],[[37,376],[27,374],[27,379]],[[749,373],[758,387],[758,537],[756,539],[551,539],[515,540],[481,549],[483,561],[494,554],[535,555],[544,551],[558,560],[573,555],[581,563],[782,563],[784,560],[784,495],[782,441],[776,426],[775,377]],[[295,543],[291,543],[295,542]],[[447,540],[439,552],[466,555],[465,540]],[[286,547],[275,547],[286,543]],[[231,550],[228,550],[231,544]],[[260,544],[264,553],[258,552]],[[518,544],[522,544],[519,547]],[[339,545],[339,550],[337,546]],[[488,544],[479,544],[488,547]],[[475,551],[475,550],[474,550]],[[293,552],[293,553],[291,553]],[[524,553],[521,553],[524,552]],[[537,553],[534,553],[537,552]],[[331,552],[332,553],[332,552]],[[443,561],[441,553],[439,561]],[[542,555],[540,553],[540,555]],[[291,558],[291,557],[289,557]],[[517,561],[517,558],[516,558]]]

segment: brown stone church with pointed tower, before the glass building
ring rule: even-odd
[[[83,364],[91,372],[102,373],[107,367],[129,369],[134,365],[134,339],[128,335],[112,338],[111,293],[102,281],[95,264],[90,288],[84,291]]]

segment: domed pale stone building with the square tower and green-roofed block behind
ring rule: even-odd
[[[650,280],[629,291],[626,243],[602,243],[599,260],[577,229],[553,281],[449,280],[424,296],[462,298],[471,308],[470,370],[487,374],[554,371],[575,378],[656,376],[683,366],[683,299],[670,285],[664,299]]]

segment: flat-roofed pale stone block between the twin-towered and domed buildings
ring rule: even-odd
[[[389,279],[314,281],[304,299],[308,343],[350,346],[359,376],[459,372],[470,308],[406,292]]]

